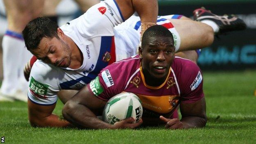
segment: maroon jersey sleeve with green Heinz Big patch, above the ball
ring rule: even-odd
[[[113,96],[120,94],[127,81],[126,70],[117,64],[111,64],[101,71],[98,76],[87,85],[94,96],[108,101]]]

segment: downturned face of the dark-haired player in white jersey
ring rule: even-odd
[[[62,39],[57,37],[43,37],[38,48],[31,50],[31,53],[47,64],[59,67],[69,67],[71,63],[71,49]]]

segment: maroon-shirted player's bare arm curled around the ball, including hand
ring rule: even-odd
[[[135,121],[133,118],[124,119],[111,125],[98,119],[92,110],[98,110],[105,106],[106,102],[96,98],[85,86],[75,96],[73,96],[62,109],[63,117],[71,122],[73,125],[82,128],[94,129],[117,129],[117,128],[135,128],[142,123],[132,123]]]

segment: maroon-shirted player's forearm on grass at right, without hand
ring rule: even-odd
[[[184,128],[202,128],[206,126],[207,119],[202,117],[183,117],[181,122]]]

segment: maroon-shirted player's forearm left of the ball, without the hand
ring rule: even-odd
[[[89,108],[84,105],[72,106],[66,103],[62,110],[63,117],[73,125],[82,128],[105,129],[112,128],[113,125],[98,119]]]

